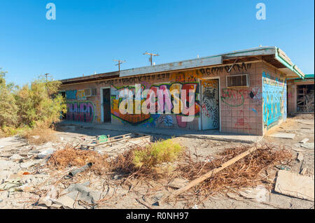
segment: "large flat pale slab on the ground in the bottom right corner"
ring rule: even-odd
[[[308,177],[291,171],[278,171],[274,191],[314,201],[314,176]]]

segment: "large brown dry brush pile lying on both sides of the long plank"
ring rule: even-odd
[[[185,161],[179,164],[177,171],[181,177],[194,180],[204,173],[218,168],[221,164],[249,148],[249,146],[229,148],[218,154],[218,159],[211,159],[211,161],[196,162],[189,153],[186,153]],[[284,147],[271,148],[268,145],[263,145],[262,148],[258,148],[258,150],[248,154],[235,162],[235,164],[216,173],[212,178],[204,180],[204,182],[195,186],[194,189],[198,194],[209,196],[218,192],[224,192],[227,189],[255,187],[267,180],[268,175],[265,173],[267,168],[277,164],[288,164],[290,161],[292,161],[292,154]]]

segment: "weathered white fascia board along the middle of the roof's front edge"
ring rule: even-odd
[[[159,64],[154,66],[144,66],[134,69],[128,69],[120,71],[120,77],[132,76],[132,75],[140,75],[147,73],[160,73],[160,72],[168,72],[168,71],[176,71],[182,69],[191,69],[200,66],[212,66],[222,64],[222,57],[204,57],[198,59],[190,59],[183,62],[173,62],[169,64]]]

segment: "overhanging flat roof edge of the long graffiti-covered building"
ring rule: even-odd
[[[277,69],[283,71],[283,73],[286,73],[288,78],[304,78],[304,73],[302,73],[302,71],[291,62],[290,58],[281,49],[272,46],[237,50],[219,55],[188,59],[167,64],[158,64],[154,66],[142,66],[134,69],[121,70],[120,73],[118,73],[118,71],[114,71],[109,73],[88,75],[79,78],[69,78],[60,81],[62,82],[62,84],[69,84],[73,82],[87,82],[91,80],[104,80],[109,78],[121,78],[134,75],[165,73],[194,69],[204,66],[218,66],[221,64],[250,62],[255,60],[264,60],[269,64],[276,66]]]

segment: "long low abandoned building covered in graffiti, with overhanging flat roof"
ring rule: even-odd
[[[300,89],[295,78],[304,80],[304,73],[282,50],[260,47],[64,79],[60,91],[67,103],[64,117],[71,121],[200,131],[218,129],[221,133],[262,136],[286,120],[287,113],[302,109],[300,104],[295,107],[294,101],[288,100],[293,96],[295,84],[294,89]],[[155,92],[153,101],[157,104],[159,89],[165,94],[173,89],[186,89],[193,91],[193,96],[171,93],[171,100],[162,96],[162,105],[157,105],[162,112],[120,113],[120,93],[127,89],[137,94],[135,85],[141,86],[141,92],[145,89]],[[141,101],[147,97],[142,94]],[[175,103],[180,104],[179,113],[174,112]]]

